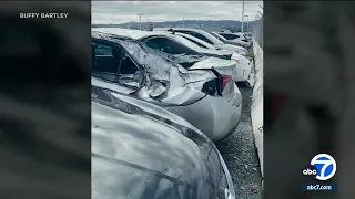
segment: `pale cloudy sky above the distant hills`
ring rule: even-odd
[[[255,20],[263,1],[244,1],[244,14]],[[92,23],[242,20],[242,1],[92,1]],[[244,18],[246,20],[246,18]]]

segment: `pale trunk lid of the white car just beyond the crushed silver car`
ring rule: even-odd
[[[214,67],[220,74],[230,75],[232,78],[236,75],[236,62],[234,60],[223,60],[217,57],[207,57],[196,62],[190,70]]]

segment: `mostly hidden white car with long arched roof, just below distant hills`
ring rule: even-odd
[[[170,31],[170,32],[181,32],[185,34],[193,35],[195,38],[199,38],[202,41],[205,41],[214,46],[217,46],[220,49],[230,50],[233,52],[239,53],[241,51],[241,46],[232,45],[232,44],[225,44],[221,40],[216,39],[211,33],[199,30],[199,29],[187,29],[187,28],[158,28],[156,31]]]

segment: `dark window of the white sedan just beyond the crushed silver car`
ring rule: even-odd
[[[196,51],[168,38],[151,38],[144,42],[149,48],[168,54],[201,55]]]

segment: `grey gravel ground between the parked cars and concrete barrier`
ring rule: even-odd
[[[241,123],[231,136],[217,142],[216,147],[231,172],[236,198],[261,199],[262,175],[254,144],[250,108],[253,90],[244,85],[239,85],[239,87],[243,95]]]

